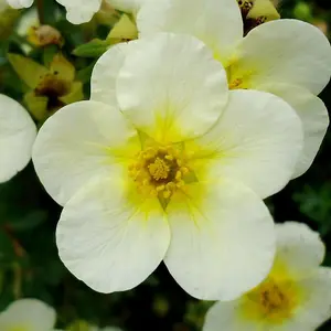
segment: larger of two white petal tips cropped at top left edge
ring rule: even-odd
[[[66,8],[66,19],[73,24],[89,22],[100,9],[102,0],[56,0]]]

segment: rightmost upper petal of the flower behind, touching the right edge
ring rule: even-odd
[[[276,20],[253,29],[243,40],[236,63],[250,73],[248,86],[287,83],[319,94],[331,75],[331,47],[316,26],[298,20]],[[232,75],[236,75],[232,72]]]

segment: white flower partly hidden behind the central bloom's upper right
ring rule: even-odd
[[[330,79],[331,47],[316,26],[277,20],[243,38],[243,20],[234,0],[146,1],[138,13],[141,36],[157,32],[192,34],[226,68],[232,89],[266,90],[288,102],[302,120],[305,148],[293,178],[311,166],[329,117],[319,94]]]

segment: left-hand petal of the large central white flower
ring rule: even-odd
[[[33,163],[49,194],[63,205],[90,178],[131,157],[129,147],[135,154],[139,138],[116,107],[81,102],[46,120],[33,147]]]

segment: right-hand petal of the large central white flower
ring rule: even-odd
[[[300,119],[282,99],[233,90],[217,124],[188,149],[196,149],[199,178],[233,178],[264,199],[290,180],[302,140]]]

